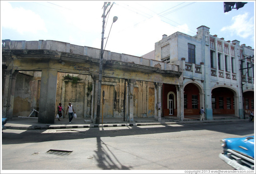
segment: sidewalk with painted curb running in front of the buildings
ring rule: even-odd
[[[196,124],[196,123],[217,123],[232,121],[248,121],[247,119],[239,119],[234,116],[219,115],[214,116],[213,120],[200,121],[199,116],[185,116],[183,121],[177,120],[177,117],[162,117],[158,122],[154,118],[135,117],[134,121],[124,121],[123,118],[100,118],[100,124],[91,123],[88,119],[77,118],[69,123],[67,118],[61,118],[60,121],[55,119],[54,124],[38,123],[38,119],[14,117],[13,120],[7,121],[6,129],[33,130],[33,129],[71,129],[71,128],[98,128],[98,127],[120,127],[120,126],[143,126],[143,125],[175,125],[175,124]]]

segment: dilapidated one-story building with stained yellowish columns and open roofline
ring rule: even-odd
[[[35,109],[39,123],[54,123],[58,104],[66,111],[71,102],[78,118],[95,122],[99,61],[100,49],[87,46],[53,40],[2,40],[2,116],[11,120]],[[175,91],[175,112],[183,120],[183,64],[105,50],[103,117],[160,121],[167,102],[162,94],[170,93],[169,88]]]

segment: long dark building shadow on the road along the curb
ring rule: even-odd
[[[243,136],[254,133],[254,123],[251,122],[222,122],[222,123],[201,123],[201,124],[182,124],[179,126],[174,125],[161,125],[159,126],[128,126],[126,129],[120,129],[116,127],[104,127],[104,128],[71,128],[55,130],[58,136],[51,136],[53,132],[45,133],[47,130],[26,130],[19,134],[4,132],[2,133],[2,144],[20,144],[31,142],[47,142],[47,141],[59,141],[59,140],[72,140],[72,139],[84,139],[95,137],[115,137],[115,136],[130,136],[130,135],[145,135],[145,134],[158,134],[168,132],[180,132],[180,131],[218,131],[226,134],[232,134],[234,137]],[[77,131],[79,130],[79,131]],[[249,131],[248,131],[249,130]],[[66,131],[66,132],[64,132]],[[69,131],[69,132],[67,132]],[[43,133],[44,132],[44,133]],[[27,138],[29,137],[29,138]]]

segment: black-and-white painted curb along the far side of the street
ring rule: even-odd
[[[150,125],[182,125],[182,124],[198,124],[198,123],[221,123],[221,122],[235,122],[247,121],[246,119],[224,119],[224,120],[205,120],[205,121],[175,121],[175,122],[160,122],[160,123],[118,123],[118,124],[104,124],[104,125],[49,125],[49,126],[5,126],[6,129],[15,130],[47,130],[47,129],[75,129],[75,128],[101,128],[101,127],[125,127],[125,126],[150,126]]]

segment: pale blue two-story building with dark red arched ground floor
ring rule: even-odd
[[[254,110],[254,49],[210,35],[209,29],[200,26],[195,36],[164,34],[155,50],[142,56],[167,63],[182,61],[182,95],[163,83],[163,116],[177,116],[180,107],[182,120],[184,115],[199,115],[204,107],[208,120],[217,114],[243,119],[243,111]]]

